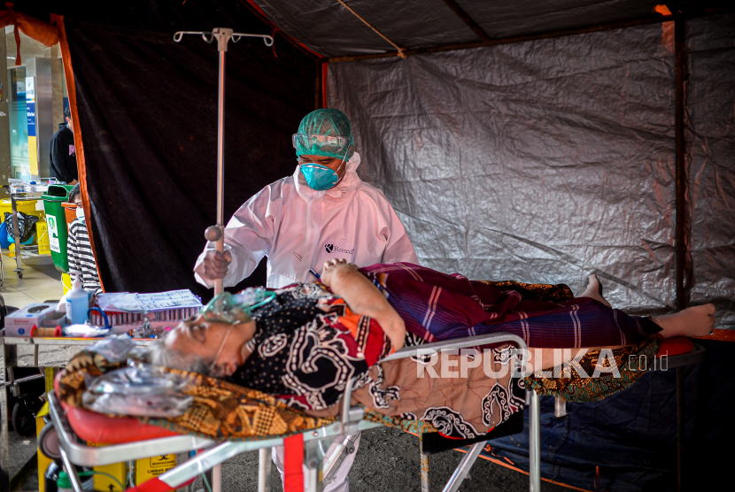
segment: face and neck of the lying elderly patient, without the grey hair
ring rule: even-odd
[[[232,331],[228,335],[230,328]],[[207,321],[203,316],[198,316],[191,321],[182,321],[166,336],[164,343],[169,349],[195,354],[205,361],[212,361],[222,347],[220,356],[214,362],[222,368],[222,373],[230,375],[250,356],[250,351],[244,345],[250,342],[253,334],[255,321],[230,325]]]

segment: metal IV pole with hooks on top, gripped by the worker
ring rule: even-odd
[[[214,250],[224,252],[225,250],[225,53],[228,42],[238,42],[244,37],[263,38],[266,46],[273,46],[273,37],[269,35],[247,35],[233,33],[227,27],[215,27],[211,33],[202,31],[179,31],[174,34],[174,42],[182,41],[183,35],[201,35],[205,42],[213,42],[217,39],[217,50],[220,52],[220,81],[218,83],[217,98],[217,225],[207,227],[205,239],[214,242]],[[214,281],[214,295],[217,296],[224,291],[222,279]]]

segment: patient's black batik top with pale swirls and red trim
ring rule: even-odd
[[[305,410],[337,403],[345,384],[390,351],[374,319],[355,315],[320,283],[275,290],[252,312],[251,357],[228,381]]]

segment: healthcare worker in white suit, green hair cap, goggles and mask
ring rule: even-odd
[[[294,173],[261,189],[235,212],[225,227],[225,252],[215,252],[208,244],[197,259],[199,283],[211,288],[215,279],[224,279],[226,287],[234,286],[264,256],[269,288],[313,281],[310,270],[321,273],[331,259],[345,258],[360,266],[400,261],[418,265],[406,230],[383,192],[356,173],[360,154],[342,111],[307,114],[293,145],[298,157]],[[347,474],[355,454],[345,457],[326,492],[349,490]],[[282,447],[273,455],[283,476]]]

